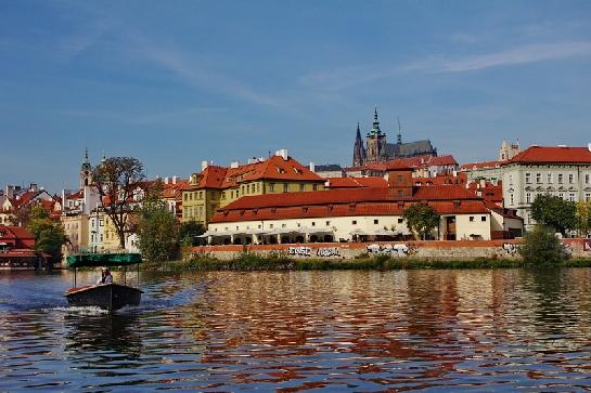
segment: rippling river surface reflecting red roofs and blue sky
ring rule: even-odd
[[[108,315],[66,306],[67,272],[0,273],[0,391],[591,390],[590,278],[145,273]]]

